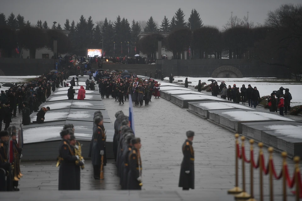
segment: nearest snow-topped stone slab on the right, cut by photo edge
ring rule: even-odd
[[[290,156],[302,157],[302,123],[290,121],[246,122],[242,124],[242,134],[286,151]]]

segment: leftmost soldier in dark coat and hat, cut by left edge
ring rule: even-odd
[[[0,168],[5,170],[0,171],[0,191],[12,191],[12,171],[11,171],[11,164],[8,162],[8,140],[9,140],[9,133],[4,130],[0,132]]]

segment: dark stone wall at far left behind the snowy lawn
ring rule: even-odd
[[[0,69],[6,76],[42,75],[53,70],[56,62],[59,63],[59,60],[1,58]]]

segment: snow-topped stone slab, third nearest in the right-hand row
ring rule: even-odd
[[[229,109],[243,109],[243,110],[254,110],[251,107],[247,107],[241,104],[231,102],[189,102],[189,111],[197,113],[202,117],[209,118],[209,110],[229,110]]]

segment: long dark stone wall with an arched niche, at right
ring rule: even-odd
[[[237,77],[277,77],[288,78],[285,68],[264,64],[250,59],[194,59],[157,60],[156,68],[164,76],[216,77],[229,73]]]

